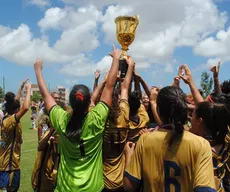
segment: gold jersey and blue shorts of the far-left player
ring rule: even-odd
[[[0,188],[19,188],[21,143],[22,128],[16,115],[4,117],[0,131]]]

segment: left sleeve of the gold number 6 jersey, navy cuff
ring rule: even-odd
[[[131,181],[141,184],[142,182],[142,153],[143,153],[143,136],[137,142],[130,163],[127,165],[124,175]]]

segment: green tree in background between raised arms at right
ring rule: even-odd
[[[204,92],[204,97],[207,97],[212,91],[213,78],[206,71],[201,74],[200,86]]]

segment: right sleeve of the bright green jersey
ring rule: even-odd
[[[93,124],[93,131],[103,131],[108,118],[109,108],[104,102],[98,102],[97,105],[89,112],[89,124]]]

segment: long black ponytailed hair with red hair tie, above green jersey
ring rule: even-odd
[[[69,95],[70,105],[73,109],[67,124],[66,133],[71,141],[80,141],[84,119],[90,104],[90,90],[85,85],[74,85]]]

